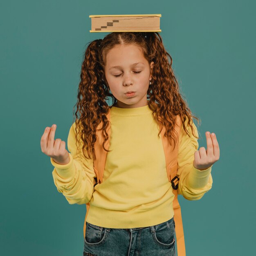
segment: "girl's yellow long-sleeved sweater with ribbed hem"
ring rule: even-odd
[[[75,130],[72,124],[67,138],[70,162],[57,164],[52,172],[58,192],[70,204],[86,204],[90,209],[86,221],[101,227],[148,227],[173,217],[171,182],[168,181],[161,135],[152,111],[139,108],[110,109],[111,135],[103,182],[94,188],[93,160],[76,155]],[[181,127],[177,174],[178,194],[199,200],[212,187],[211,167],[200,171],[193,166],[198,141]],[[198,135],[195,124],[193,127]],[[78,151],[79,152],[79,151]],[[95,189],[95,191],[94,191]]]

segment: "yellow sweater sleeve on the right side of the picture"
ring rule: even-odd
[[[204,193],[208,192],[213,183],[211,167],[200,171],[193,166],[194,153],[198,150],[198,139],[193,136],[188,122],[185,122],[190,137],[181,126],[179,136],[179,149],[177,161],[177,174],[180,175],[178,194],[183,195],[187,200],[199,200]],[[194,123],[194,134],[198,137],[198,130]]]

